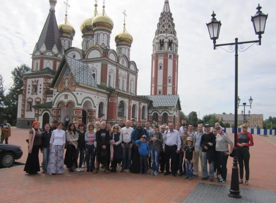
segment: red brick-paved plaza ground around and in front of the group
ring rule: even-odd
[[[230,135],[233,139],[233,135]],[[20,145],[23,156],[20,162],[25,162],[28,145],[25,141],[28,130],[12,129],[10,144]],[[275,141],[254,135],[254,146],[250,147],[250,180],[248,186],[240,185],[242,199],[232,199],[224,195],[218,202],[270,202],[276,191],[276,150]],[[271,138],[273,139],[273,138]],[[276,139],[276,138],[274,138]],[[42,154],[40,153],[40,162]],[[200,164],[199,164],[200,165]],[[98,174],[91,172],[75,172],[64,175],[37,174],[28,175],[24,166],[0,169],[0,202],[209,202],[204,199],[209,189],[226,191],[230,188],[232,158],[228,159],[228,176],[225,186],[216,181],[201,181],[201,176],[193,180],[182,177],[164,176],[159,174],[138,175],[127,172],[104,174],[102,169]],[[118,168],[119,169],[119,168]],[[200,173],[201,174],[201,173]],[[204,184],[202,186],[202,184]],[[213,186],[217,185],[217,186]],[[202,188],[205,188],[203,190]],[[215,189],[216,188],[216,189]],[[218,190],[218,188],[221,190]],[[248,189],[249,188],[249,189]],[[258,190],[254,190],[258,189]],[[264,191],[266,190],[266,191]],[[251,191],[251,192],[249,192]],[[254,193],[257,191],[257,193]],[[245,198],[250,194],[254,198]],[[259,200],[258,197],[265,197]],[[270,196],[270,197],[268,197]],[[207,197],[207,196],[206,196]],[[214,202],[214,201],[213,201]]]

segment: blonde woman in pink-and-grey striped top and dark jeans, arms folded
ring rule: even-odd
[[[94,141],[96,140],[96,133],[94,132],[94,124],[88,123],[87,124],[87,131],[84,135],[85,140],[85,148],[86,148],[86,172],[93,172],[94,168]]]

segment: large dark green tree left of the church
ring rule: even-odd
[[[4,104],[6,106],[6,112],[9,112],[8,116],[11,120],[11,123],[13,124],[17,118],[17,90],[22,88],[23,74],[28,70],[31,70],[31,68],[28,65],[21,64],[20,66],[14,68],[14,70],[11,72],[13,83],[9,88],[9,93],[5,96]]]

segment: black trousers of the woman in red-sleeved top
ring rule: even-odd
[[[249,180],[249,147],[238,148],[238,162],[240,166],[240,179],[243,179],[243,165],[245,169],[245,180]]]

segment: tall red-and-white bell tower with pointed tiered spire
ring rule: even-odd
[[[165,0],[152,46],[151,95],[176,95],[178,90],[178,39],[169,0]]]

